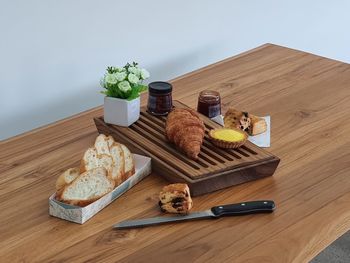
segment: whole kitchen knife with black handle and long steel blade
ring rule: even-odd
[[[219,218],[221,216],[240,216],[255,213],[271,213],[275,210],[275,203],[272,200],[250,201],[231,205],[214,206],[202,212],[193,212],[187,215],[160,216],[138,220],[126,220],[115,224],[113,228],[125,229],[145,227],[151,225],[179,222],[185,220]]]

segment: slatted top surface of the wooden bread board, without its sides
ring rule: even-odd
[[[174,101],[174,106],[187,107],[178,101]],[[274,158],[272,154],[249,141],[238,149],[221,149],[214,146],[210,142],[208,131],[221,126],[203,115],[201,115],[201,118],[204,121],[206,131],[204,143],[196,161],[189,159],[184,153],[176,149],[175,145],[168,142],[165,136],[166,117],[154,116],[148,113],[145,108],[141,111],[140,119],[128,128],[108,126],[123,133],[138,147],[144,148],[163,162],[168,163],[182,176],[194,180]],[[103,122],[103,117],[98,121]]]

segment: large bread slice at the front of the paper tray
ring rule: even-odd
[[[111,192],[114,185],[107,170],[98,167],[79,175],[56,198],[70,205],[86,206]]]

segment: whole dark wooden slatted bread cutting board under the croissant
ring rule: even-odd
[[[174,107],[188,108],[179,101]],[[103,116],[95,118],[99,133],[112,135],[134,153],[152,158],[152,169],[170,182],[187,183],[193,196],[237,185],[275,172],[280,159],[247,141],[238,149],[214,146],[208,131],[221,126],[204,115],[205,138],[198,160],[191,160],[175,148],[165,136],[165,116],[154,116],[141,109],[140,119],[129,127],[107,124]]]

